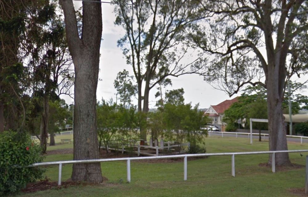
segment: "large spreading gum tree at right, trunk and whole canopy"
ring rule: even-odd
[[[286,81],[294,74],[299,77],[307,71],[308,2],[200,2],[201,10],[213,17],[199,23],[196,31],[189,34],[196,46],[214,55],[211,68],[217,73],[205,80],[219,84],[217,88],[229,96],[246,84],[264,86],[267,89],[269,149],[287,150],[282,101]],[[260,81],[262,76],[265,82]],[[290,165],[288,153],[275,154],[275,163]]]

